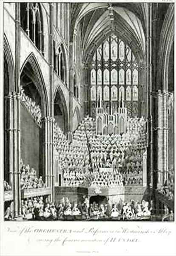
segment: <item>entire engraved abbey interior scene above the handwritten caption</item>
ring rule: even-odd
[[[4,3],[5,220],[174,220],[174,4]]]

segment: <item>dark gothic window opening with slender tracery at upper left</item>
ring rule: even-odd
[[[23,30],[44,54],[43,17],[40,3],[20,3],[20,17]]]

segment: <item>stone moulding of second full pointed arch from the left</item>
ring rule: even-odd
[[[54,92],[53,104],[56,99],[57,93],[58,93],[58,96],[60,99],[60,104],[62,105],[61,107],[62,107],[62,113],[63,113],[63,117],[64,117],[64,130],[66,133],[66,132],[68,132],[68,109],[67,109],[67,104],[65,101],[65,96],[64,96],[59,84],[57,85],[56,90]]]

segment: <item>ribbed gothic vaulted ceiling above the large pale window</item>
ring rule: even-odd
[[[71,30],[79,26],[82,59],[88,61],[99,44],[113,33],[142,60],[145,54],[146,17],[146,3],[71,4]]]

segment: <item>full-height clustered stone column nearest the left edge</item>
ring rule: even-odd
[[[10,96],[14,217],[21,215],[20,188],[20,3],[15,4],[15,84]]]

